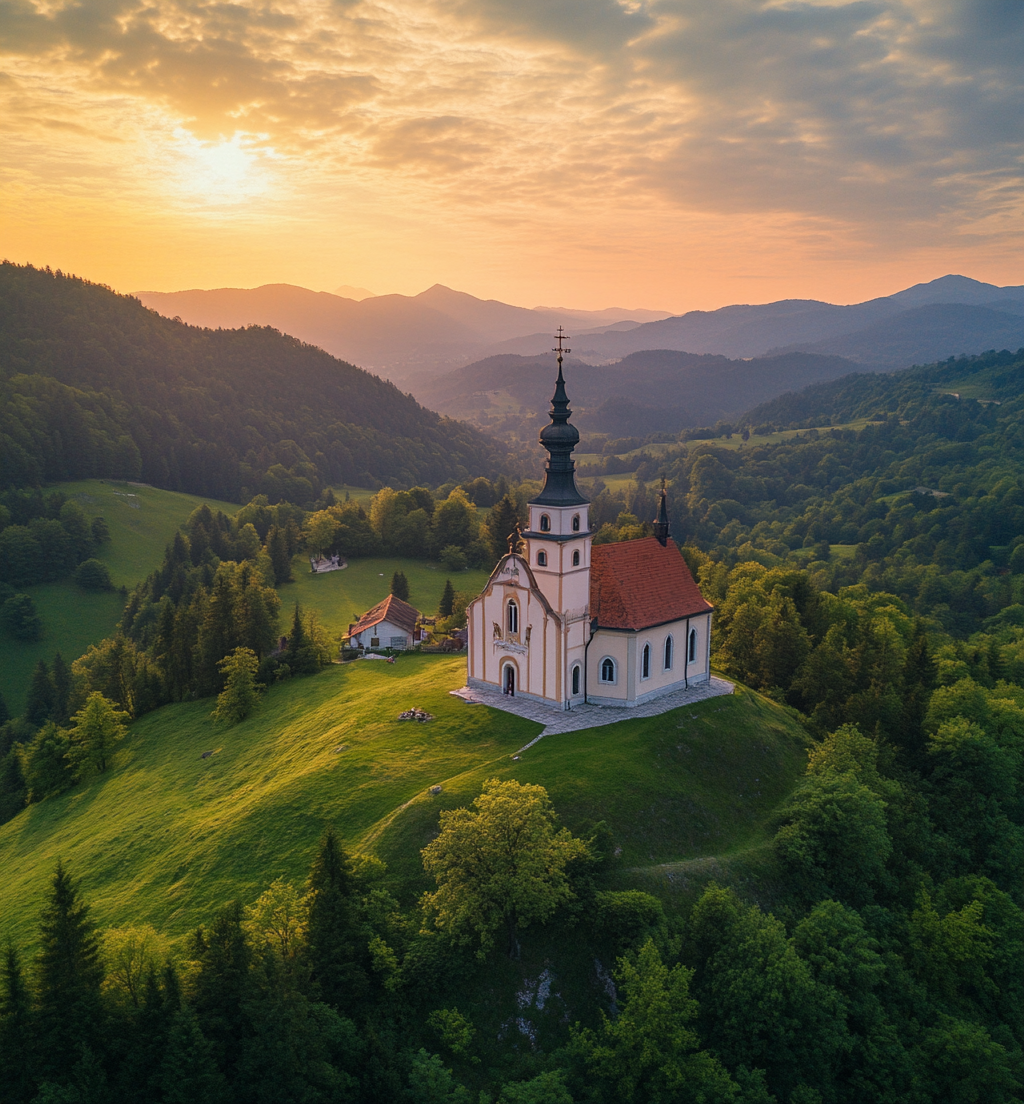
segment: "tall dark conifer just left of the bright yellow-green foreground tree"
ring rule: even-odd
[[[366,988],[354,890],[352,860],[329,827],[307,882],[307,947],[320,998],[341,1011],[356,1005]]]

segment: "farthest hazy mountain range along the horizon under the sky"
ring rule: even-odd
[[[852,306],[782,299],[678,316],[627,308],[527,309],[440,284],[415,296],[341,290],[351,297],[289,284],[138,297],[194,326],[274,326],[418,395],[436,390],[426,381],[471,362],[548,355],[557,326],[569,331],[574,354],[588,363],[658,349],[733,359],[807,352],[890,371],[1024,346],[1024,286],[996,287],[966,276],[942,276]]]

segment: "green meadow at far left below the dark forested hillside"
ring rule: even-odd
[[[138,484],[88,479],[57,484],[90,517],[103,516],[110,540],[96,553],[110,570],[115,586],[135,586],[163,559],[163,549],[178,527],[203,502],[234,513],[238,507],[215,499],[158,490]],[[90,594],[65,580],[25,588],[35,599],[43,622],[42,639],[32,644],[0,634],[0,692],[8,708],[19,714],[24,708],[29,676],[39,659],[50,662],[60,651],[71,662],[90,644],[114,631],[125,599],[116,592]]]

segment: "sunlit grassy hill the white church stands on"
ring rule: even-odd
[[[458,658],[360,661],[274,687],[234,728],[215,724],[210,700],[142,718],[106,775],[0,828],[0,938],[32,942],[57,857],[100,924],[181,936],[226,900],[301,880],[328,822],[410,900],[439,810],[491,776],[546,786],[569,827],[607,820],[625,880],[756,846],[803,769],[801,730],[747,691],[546,737],[513,762],[537,725],[452,698],[463,671]],[[409,705],[436,720],[398,722]]]

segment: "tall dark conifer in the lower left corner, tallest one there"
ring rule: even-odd
[[[65,1080],[99,1036],[103,966],[96,928],[78,885],[57,860],[40,921],[35,959],[40,1073]]]

